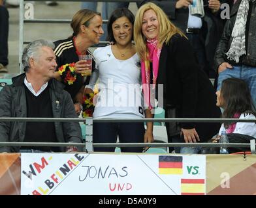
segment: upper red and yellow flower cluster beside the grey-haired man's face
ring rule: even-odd
[[[68,83],[69,85],[72,85],[74,81],[76,81],[76,72],[74,72],[74,63],[62,65],[59,68],[58,72],[61,75],[61,78],[64,81],[64,83]]]

